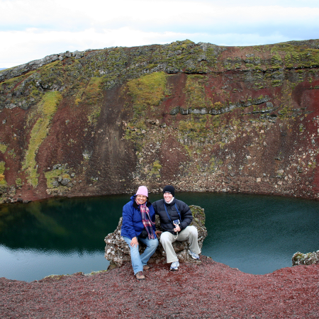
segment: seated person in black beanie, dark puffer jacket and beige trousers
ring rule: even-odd
[[[175,240],[189,240],[189,254],[194,259],[199,259],[198,254],[201,250],[198,247],[198,233],[195,226],[189,226],[193,215],[189,206],[183,201],[174,198],[175,189],[167,185],[163,189],[164,199],[159,199],[153,203],[155,213],[159,215],[162,232],[157,230],[155,233],[161,235],[160,242],[166,252],[167,263],[172,262],[170,270],[179,269],[179,259],[174,251],[172,243]]]

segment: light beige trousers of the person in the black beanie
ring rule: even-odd
[[[178,240],[179,242],[184,242],[184,240],[189,240],[189,250],[200,254],[201,250],[198,246],[198,233],[195,226],[187,226],[185,229],[181,230],[179,235],[173,235],[169,232],[164,232],[161,234],[160,242],[166,252],[167,262],[177,262],[177,254],[174,251],[172,243]]]

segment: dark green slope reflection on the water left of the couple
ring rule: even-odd
[[[125,199],[62,198],[5,205],[0,207],[0,242],[9,248],[101,252]]]

